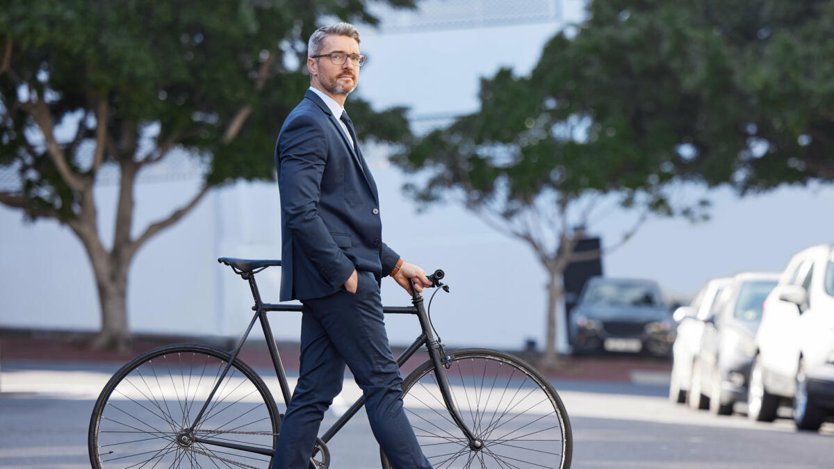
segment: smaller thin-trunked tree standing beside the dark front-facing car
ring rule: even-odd
[[[563,36],[554,40],[570,44]],[[567,73],[573,73],[567,65],[561,71],[565,78],[552,68],[541,76],[549,64],[550,58],[542,58],[529,78],[502,69],[482,80],[480,112],[415,140],[393,159],[424,174],[425,184],[408,185],[421,201],[438,202],[451,194],[535,252],[548,273],[545,365],[555,362],[556,307],[564,294],[565,267],[600,255],[574,253],[600,205],[616,199],[636,209],[635,225],[623,240],[651,210],[672,213],[662,191],[670,178],[644,157],[641,145],[629,143],[621,117],[597,117],[579,87],[565,85]],[[557,84],[547,86],[548,80]]]

